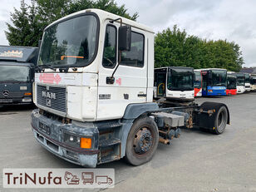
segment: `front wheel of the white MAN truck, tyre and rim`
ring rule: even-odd
[[[131,165],[142,165],[152,159],[159,142],[158,127],[148,117],[140,117],[130,128],[126,142],[126,160]]]

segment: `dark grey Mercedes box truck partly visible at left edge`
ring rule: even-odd
[[[0,46],[0,106],[32,104],[37,47]]]

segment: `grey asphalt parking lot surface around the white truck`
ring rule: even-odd
[[[99,168],[116,171],[116,186],[106,191],[256,192],[256,92],[196,101],[224,102],[229,106],[231,125],[224,134],[182,130],[180,138],[171,145],[160,144],[154,159],[145,165],[135,167],[127,165],[125,160],[100,165]],[[37,144],[30,126],[31,111],[31,107],[23,106],[0,108],[1,169],[81,168]],[[1,187],[0,191],[37,190]]]

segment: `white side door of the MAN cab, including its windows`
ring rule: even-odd
[[[147,42],[145,33],[132,27],[130,52],[118,52],[118,27],[106,22],[102,63],[99,66],[97,120],[121,118],[130,103],[146,101],[147,87]],[[115,70],[118,57],[121,64],[114,75],[113,84],[106,78]]]

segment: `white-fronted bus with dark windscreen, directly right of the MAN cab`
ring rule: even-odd
[[[176,101],[194,101],[194,69],[167,66],[155,69],[154,97]]]

